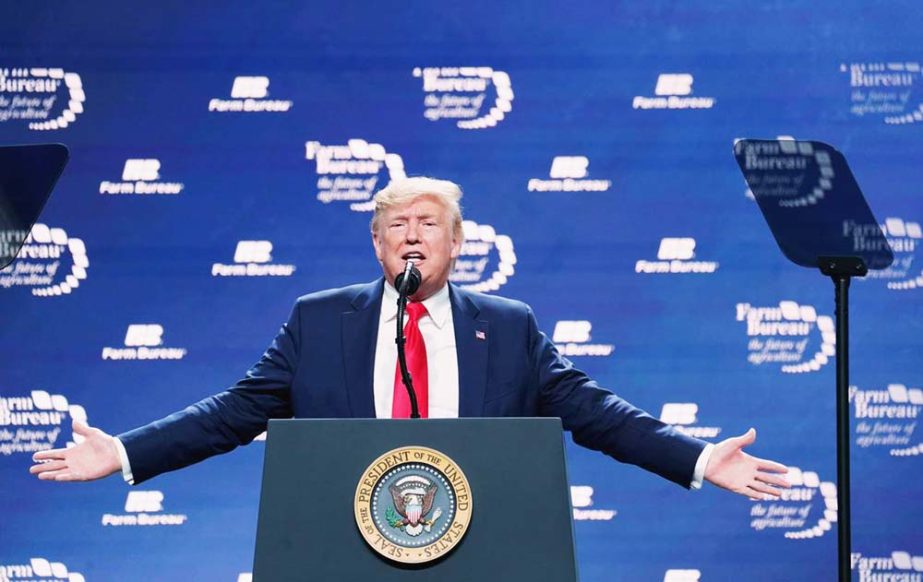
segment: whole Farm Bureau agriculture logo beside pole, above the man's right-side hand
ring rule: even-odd
[[[778,307],[737,304],[737,321],[747,324],[747,361],[754,366],[781,364],[786,374],[816,372],[836,353],[833,318],[817,315],[810,305],[780,301]],[[808,346],[814,330],[819,346],[813,355]],[[816,343],[816,342],[815,342]]]

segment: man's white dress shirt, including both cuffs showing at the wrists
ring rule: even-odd
[[[455,324],[452,321],[452,303],[449,286],[423,301],[426,315],[420,318],[420,334],[426,343],[426,363],[429,376],[429,418],[458,418],[458,356],[455,349]],[[375,416],[391,418],[394,400],[394,375],[397,369],[396,335],[397,290],[385,282],[381,313],[378,317],[378,341],[375,347],[374,394]],[[406,315],[405,315],[406,318]],[[406,321],[404,323],[406,325]],[[115,445],[122,462],[122,477],[134,484],[131,463],[125,446],[118,438]],[[692,474],[691,487],[700,489],[705,477],[705,467],[715,445],[709,443],[699,454]]]

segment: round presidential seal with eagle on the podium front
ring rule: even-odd
[[[441,558],[468,531],[471,489],[455,461],[426,447],[388,451],[362,473],[356,525],[376,552],[395,562]]]

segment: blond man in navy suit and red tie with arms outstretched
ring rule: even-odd
[[[121,471],[137,484],[249,443],[270,418],[406,418],[394,281],[412,260],[422,282],[405,334],[424,417],[557,416],[577,443],[684,487],[708,480],[762,499],[788,486],[784,466],[743,452],[753,429],[716,445],[682,435],[574,368],[524,303],[451,285],[462,245],[460,198],[451,182],[393,181],[376,194],[371,225],[382,279],[301,297],[229,390],[117,437],[75,423],[83,441],[36,453],[31,472],[87,481]]]

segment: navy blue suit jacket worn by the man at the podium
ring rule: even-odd
[[[135,483],[252,441],[270,418],[374,418],[384,280],[305,295],[245,378],[119,435]],[[705,443],[600,388],[519,301],[449,286],[459,416],[557,416],[574,440],[688,487]]]

